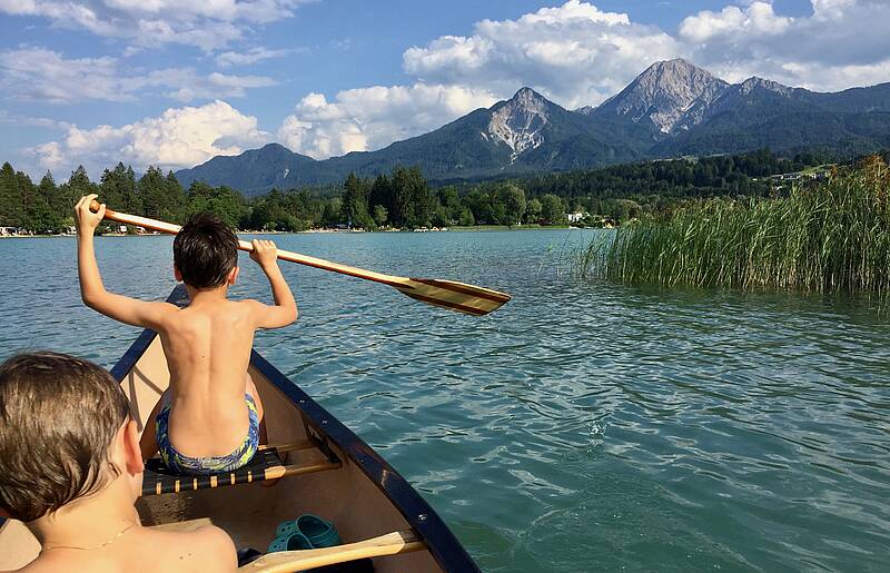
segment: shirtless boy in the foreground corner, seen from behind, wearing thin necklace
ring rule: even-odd
[[[19,571],[235,571],[231,539],[142,527],[139,432],[120,385],[95,364],[56,353],[0,365],[0,515],[41,543]]]

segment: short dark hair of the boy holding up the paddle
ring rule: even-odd
[[[209,213],[192,215],[174,239],[174,265],[182,283],[216,288],[238,264],[238,237]]]

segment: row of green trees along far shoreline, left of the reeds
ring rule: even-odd
[[[165,174],[156,167],[137,177],[132,167],[118,164],[102,171],[98,181],[78,167],[58,185],[50,172],[34,184],[6,162],[0,168],[0,226],[62,233],[73,225],[73,204],[89,194],[116,210],[152,219],[181,224],[194,213],[210,211],[239,229],[277,231],[562,223],[566,208],[553,195],[526,201],[523,189],[510,181],[478,186],[464,196],[455,187],[433,189],[417,167],[396,167],[375,179],[349,175],[333,191],[273,189],[247,198],[230,187],[201,181],[185,189],[172,171]]]

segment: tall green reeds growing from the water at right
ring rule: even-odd
[[[890,295],[890,169],[878,157],[783,198],[709,199],[621,227],[576,270],[624,283]]]

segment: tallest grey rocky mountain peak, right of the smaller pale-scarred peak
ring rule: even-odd
[[[597,112],[650,119],[670,134],[701,121],[701,110],[729,87],[706,70],[682,58],[659,61],[636,77],[617,96],[606,100]]]

